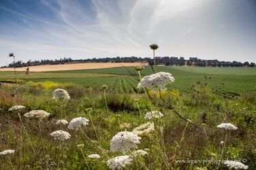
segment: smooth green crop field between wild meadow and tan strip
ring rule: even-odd
[[[87,69],[74,71],[51,71],[42,73],[19,73],[20,80],[42,82],[74,82],[86,87],[100,88],[103,84],[109,88],[124,91],[137,91],[138,81],[129,75],[133,67],[115,67],[107,69]],[[191,92],[190,88],[195,82],[207,82],[214,89],[220,88],[227,94],[239,94],[256,90],[256,68],[251,67],[155,67],[155,71],[165,71],[173,74],[175,82],[168,86],[169,90],[177,89]],[[141,71],[141,75],[154,73],[150,66]],[[207,79],[205,80],[205,76]],[[13,72],[0,72],[0,80],[14,79]],[[246,83],[244,83],[246,82]]]

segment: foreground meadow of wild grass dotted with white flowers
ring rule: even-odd
[[[232,93],[204,75],[184,90],[168,67],[127,69],[136,91],[113,88],[111,73],[94,87],[3,82],[0,169],[256,169],[255,84]]]

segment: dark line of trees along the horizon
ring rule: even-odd
[[[155,60],[154,60],[155,59]],[[244,63],[238,61],[218,61],[218,60],[202,60],[197,57],[190,57],[188,60],[184,57],[175,57],[175,56],[156,56],[152,58],[141,58],[137,56],[129,57],[115,57],[115,58],[86,58],[86,59],[72,59],[72,58],[60,58],[59,60],[35,60],[35,61],[17,61],[15,67],[30,67],[35,65],[64,65],[70,63],[150,63],[150,65],[177,65],[177,66],[195,66],[195,67],[255,67],[255,63]],[[14,63],[9,64],[4,67],[14,67]]]

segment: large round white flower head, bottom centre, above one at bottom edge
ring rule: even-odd
[[[137,148],[140,139],[141,137],[132,132],[119,132],[111,139],[110,149],[113,152],[120,151],[122,154],[126,154],[126,152],[130,151],[130,148]]]

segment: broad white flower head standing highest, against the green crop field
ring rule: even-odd
[[[141,82],[138,84],[138,88],[154,88],[159,86],[160,90],[164,90],[165,85],[174,82],[174,80],[171,73],[159,72],[142,78]]]

